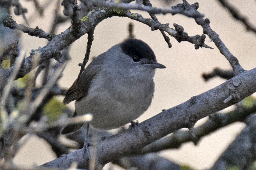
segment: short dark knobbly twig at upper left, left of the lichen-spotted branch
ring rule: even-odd
[[[3,24],[4,26],[9,27],[10,29],[18,29],[24,33],[28,33],[28,35],[38,36],[39,38],[46,38],[49,41],[52,40],[54,37],[53,34],[47,34],[42,29],[39,29],[38,26],[36,26],[35,29],[33,29],[22,24],[17,24],[9,14],[6,15]]]

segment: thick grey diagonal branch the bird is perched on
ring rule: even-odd
[[[256,92],[256,68],[243,72],[176,107],[164,110],[140,123],[137,131],[125,130],[111,137],[102,138],[97,141],[97,160],[100,162],[98,168],[121,156],[138,153],[146,145],[178,129],[190,127],[197,120],[227,108],[254,92]],[[229,96],[232,96],[232,99],[224,102]],[[42,166],[68,168],[73,161],[78,163],[79,168],[84,166],[82,149]]]

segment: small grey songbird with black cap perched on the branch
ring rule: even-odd
[[[76,115],[93,114],[90,122],[98,129],[115,129],[141,116],[150,106],[155,90],[156,62],[152,49],[143,41],[127,39],[94,58],[77,82],[69,88],[64,104],[75,101]],[[68,125],[67,134],[82,124]]]

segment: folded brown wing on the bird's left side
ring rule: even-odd
[[[82,72],[79,82],[77,83],[76,80],[73,85],[68,89],[68,92],[66,93],[63,100],[64,104],[68,104],[74,100],[82,99],[88,94],[90,83],[92,82],[93,78],[95,78],[95,76],[100,72],[102,63],[103,61],[99,61],[98,57],[93,59],[93,61]]]

